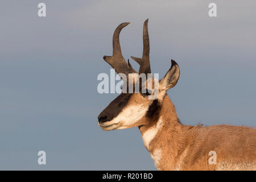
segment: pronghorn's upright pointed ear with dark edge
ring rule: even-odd
[[[167,91],[168,89],[174,87],[177,84],[180,76],[179,65],[174,60],[171,60],[172,66],[166,73],[166,76],[159,81],[159,90]]]

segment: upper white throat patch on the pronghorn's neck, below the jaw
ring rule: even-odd
[[[143,139],[144,146],[147,148],[147,150],[151,140],[155,138],[155,135],[160,130],[162,123],[163,123],[163,120],[160,118],[156,123],[156,126],[150,127],[147,131],[143,133],[142,139]]]

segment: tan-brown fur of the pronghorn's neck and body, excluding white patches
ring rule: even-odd
[[[158,169],[256,169],[256,129],[229,125],[182,125],[168,96],[164,97],[161,108],[163,126],[148,148],[151,153],[158,148],[162,151]],[[143,135],[155,124],[156,121],[148,122],[148,125],[140,126],[139,130]],[[208,163],[209,151],[216,151],[217,164]]]

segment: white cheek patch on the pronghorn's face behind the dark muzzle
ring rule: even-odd
[[[125,109],[123,109],[117,117],[112,119],[112,121],[109,121],[109,123],[118,124],[117,129],[126,129],[146,115],[147,110],[148,105],[143,104],[126,106]]]

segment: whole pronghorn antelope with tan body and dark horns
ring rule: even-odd
[[[143,26],[142,58],[131,56],[140,65],[141,73],[151,73],[148,19]],[[137,73],[122,56],[119,34],[129,23],[120,24],[113,35],[113,55],[104,56],[121,75]],[[144,146],[159,170],[256,170],[256,129],[243,126],[185,126],[177,117],[174,104],[166,94],[179,79],[179,66],[172,60],[171,68],[159,81],[158,96],[148,99],[156,88],[146,93],[122,92],[100,115],[98,125],[103,130],[138,127]],[[131,73],[131,74],[130,74]],[[138,75],[138,74],[137,74]],[[126,80],[123,80],[126,81]],[[135,84],[135,79],[133,79]],[[148,80],[147,80],[148,81]],[[147,82],[146,81],[146,82]],[[154,85],[156,80],[151,80]],[[151,86],[152,86],[151,85]],[[216,152],[216,163],[209,163],[210,151]]]

